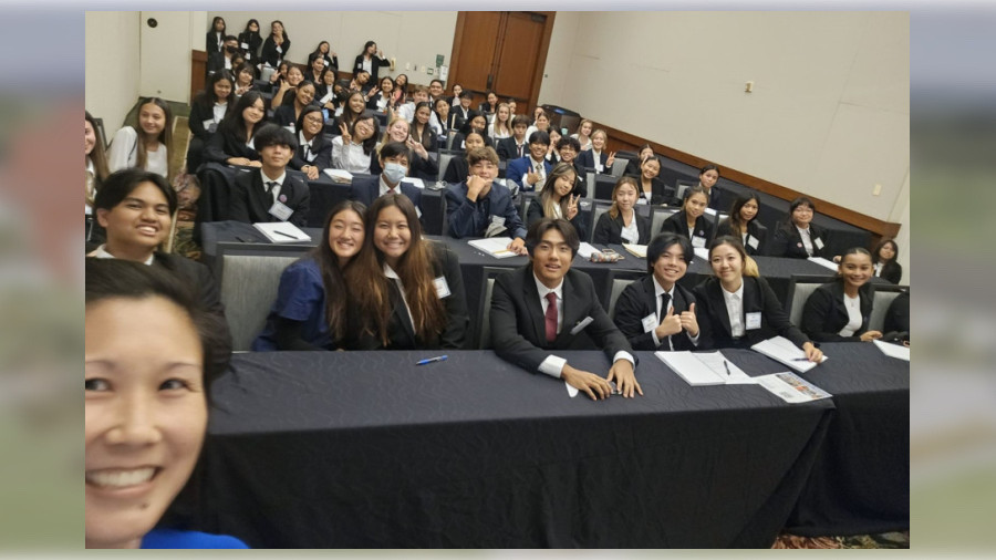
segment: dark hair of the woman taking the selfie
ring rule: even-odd
[[[112,299],[143,300],[164,298],[183,309],[200,340],[204,360],[204,385],[211,383],[228,367],[231,359],[231,334],[225,319],[208,312],[194,294],[193,286],[173,272],[123,259],[85,260],[85,305]],[[210,392],[205,391],[210,403]]]

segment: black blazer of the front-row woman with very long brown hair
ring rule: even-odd
[[[356,304],[355,299],[350,300],[349,305],[349,334],[346,348],[349,350],[430,350],[447,349],[459,350],[464,346],[465,334],[470,324],[470,315],[467,313],[467,300],[464,293],[464,279],[460,274],[460,261],[457,255],[438,241],[425,241],[428,243],[433,260],[433,277],[445,278],[449,287],[450,295],[443,302],[446,307],[446,326],[443,332],[432,340],[421,340],[415,335],[408,310],[405,309],[397,282],[388,281],[391,287],[391,318],[387,322],[387,345],[384,346],[375,326],[369,322],[369,312]]]

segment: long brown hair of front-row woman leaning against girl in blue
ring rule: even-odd
[[[411,232],[408,250],[398,259],[395,272],[401,277],[405,289],[405,301],[412,313],[415,334],[423,342],[432,344],[446,328],[446,309],[443,300],[436,294],[433,284],[433,259],[428,241],[423,242],[422,225],[415,211],[415,205],[404,195],[384,195],[378,197],[366,210],[366,236],[363,249],[354,263],[346,271],[346,279],[352,287],[351,297],[362,310],[362,329],[380,336],[387,346],[387,323],[392,304],[391,280],[384,276],[384,256],[374,246],[374,230],[381,210],[390,206],[397,207],[405,216]]]

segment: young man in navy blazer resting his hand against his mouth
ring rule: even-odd
[[[448,234],[464,237],[511,237],[508,249],[526,255],[526,228],[508,187],[494,183],[498,176],[498,154],[490,147],[467,153],[470,175],[446,190]]]

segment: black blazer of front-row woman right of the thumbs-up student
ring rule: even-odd
[[[744,277],[744,326],[747,326],[747,313],[760,312],[759,329],[744,331],[740,340],[734,340],[729,326],[729,313],[726,311],[726,299],[718,278],[708,278],[693,290],[695,294],[695,319],[698,320],[698,348],[750,348],[762,340],[781,335],[797,346],[809,342],[802,331],[792,325],[788,314],[781,308],[775,291],[764,278]]]

